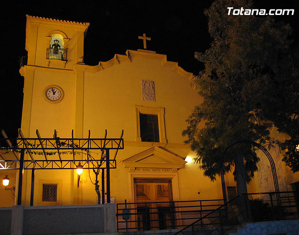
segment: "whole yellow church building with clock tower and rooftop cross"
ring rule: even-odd
[[[220,178],[211,182],[198,165],[185,161],[195,153],[183,144],[181,132],[193,107],[202,100],[189,85],[192,74],[167,61],[166,55],[147,50],[146,45],[97,66],[86,65],[83,46],[88,26],[27,15],[28,60],[20,69],[24,77],[23,137],[36,138],[38,129],[42,138],[52,138],[54,130],[61,138],[71,138],[72,130],[74,138],[87,138],[89,130],[92,138],[104,138],[107,129],[108,137],[118,138],[124,130],[125,148],[118,151],[117,168],[111,169],[112,202],[222,199]],[[282,138],[275,130],[273,135]],[[99,154],[91,153],[94,158]],[[299,175],[281,162],[279,149],[271,154],[276,157],[281,191],[292,190]],[[274,190],[271,174],[265,174],[270,172],[269,163],[263,160],[260,164],[263,170],[248,185],[249,192]],[[11,182],[17,179],[15,171],[0,173]],[[95,180],[93,171],[83,170],[78,187],[75,170],[36,170],[33,205],[96,204],[90,178]],[[229,174],[225,180],[232,197],[236,183]],[[24,171],[22,205],[30,205],[30,183],[31,172]],[[55,195],[49,197],[54,200],[48,200],[44,194],[53,185]],[[7,192],[1,188],[0,194]],[[12,199],[1,197],[0,201],[1,206],[14,204]]]

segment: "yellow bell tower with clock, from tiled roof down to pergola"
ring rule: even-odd
[[[82,137],[84,34],[89,23],[26,15],[27,64],[24,77],[21,129],[35,137],[36,129],[51,137],[75,130]],[[65,133],[64,133],[65,132]]]

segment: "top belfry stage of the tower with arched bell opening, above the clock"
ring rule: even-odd
[[[72,69],[83,63],[84,33],[89,23],[26,15],[27,65]]]

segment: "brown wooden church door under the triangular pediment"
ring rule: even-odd
[[[171,180],[134,179],[139,230],[174,229]]]

